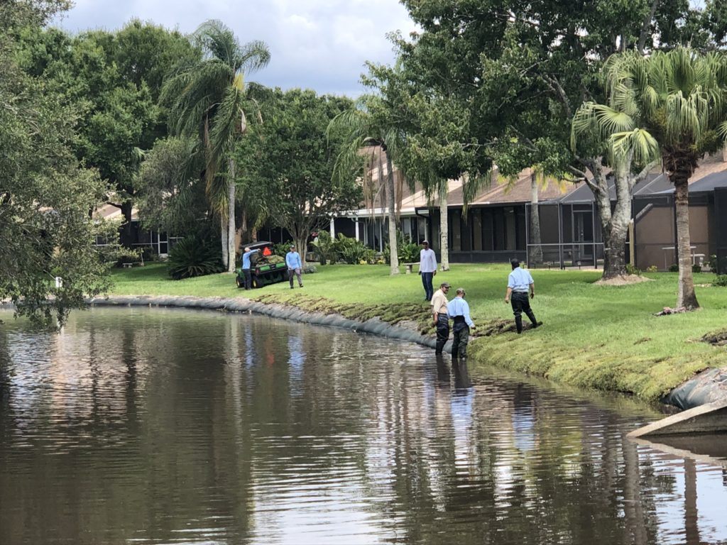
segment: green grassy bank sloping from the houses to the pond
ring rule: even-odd
[[[416,267],[415,267],[416,270]],[[454,265],[435,276],[435,287],[447,281],[467,289],[475,331],[512,321],[505,304],[507,265]],[[544,327],[522,335],[507,332],[481,336],[470,348],[474,362],[546,376],[558,382],[605,390],[633,392],[654,400],[685,379],[712,366],[727,366],[727,351],[700,342],[726,327],[727,288],[713,288],[710,273],[698,273],[697,297],[702,310],[654,316],[675,304],[677,273],[648,274],[652,281],[630,286],[597,286],[598,271],[534,270],[533,309]],[[173,281],[164,265],[153,264],[114,273],[116,295],[245,296],[232,275]],[[340,312],[366,320],[379,316],[397,323],[415,320],[429,326],[429,306],[418,275],[390,277],[388,267],[329,265],[303,277],[305,288],[287,283],[252,292],[252,299],[278,302],[302,310]],[[451,291],[454,294],[454,291]]]

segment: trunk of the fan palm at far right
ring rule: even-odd
[[[677,256],[679,263],[679,285],[677,308],[696,310],[699,302],[694,292],[694,278],[691,274],[691,240],[689,238],[689,184],[688,177],[681,171],[673,175],[674,203],[677,213]]]

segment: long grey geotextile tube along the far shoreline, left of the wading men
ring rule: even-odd
[[[183,307],[207,310],[227,310],[229,312],[255,312],[281,320],[293,320],[311,323],[316,326],[332,326],[353,331],[399,339],[406,342],[422,344],[434,348],[436,339],[418,334],[416,331],[392,326],[380,320],[358,322],[337,314],[321,312],[305,312],[297,308],[263,304],[247,299],[225,299],[223,297],[188,297],[188,296],[110,296],[87,299],[89,305],[97,306],[134,306],[134,307]],[[447,342],[444,352],[451,352],[451,341]]]

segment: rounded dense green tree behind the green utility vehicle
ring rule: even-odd
[[[329,123],[350,108],[342,97],[292,89],[271,91],[260,101],[262,119],[238,145],[241,183],[278,225],[291,233],[305,257],[306,241],[332,214],[358,209],[355,177],[334,177],[335,151],[343,134],[327,134]]]

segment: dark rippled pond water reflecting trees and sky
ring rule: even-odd
[[[727,539],[724,458],[624,439],[661,416],[626,397],[255,315],[0,319],[3,545]]]

